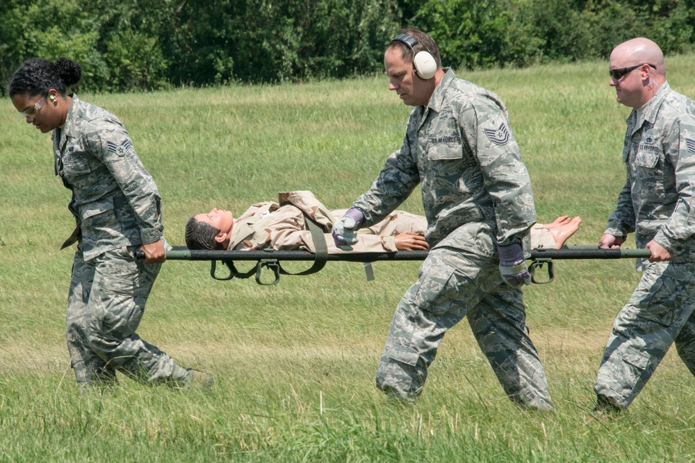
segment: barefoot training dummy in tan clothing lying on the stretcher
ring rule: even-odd
[[[307,217],[322,228],[329,254],[349,252],[426,251],[425,217],[396,210],[379,223],[359,230],[352,251],[338,248],[330,235],[336,218],[345,209],[328,210],[311,192],[281,192],[278,201],[256,203],[240,217],[214,208],[197,214],[186,223],[188,249],[229,251],[304,250],[316,252]],[[581,223],[580,217],[558,217],[551,224],[537,224],[531,230],[532,247],[559,249]]]

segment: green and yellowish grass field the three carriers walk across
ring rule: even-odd
[[[671,86],[695,96],[695,56],[667,67]],[[624,181],[629,112],[607,62],[458,75],[507,103],[540,221],[580,215],[571,242],[597,242]],[[124,121],[163,197],[165,236],[183,244],[190,215],[240,213],[278,191],[347,207],[400,147],[409,108],[387,85],[378,76],[80,96]],[[378,262],[372,282],[361,264],[330,262],[273,287],[167,262],[139,333],[215,373],[216,389],[123,379],[111,394],[81,396],[64,335],[72,251],[58,251],[74,226],[70,195],[49,137],[8,99],[0,127],[0,461],[695,461],[695,381],[675,350],[628,412],[585,425],[612,320],[639,280],[629,260],[557,262],[554,283],[524,289],[552,414],[509,403],[465,321],[443,340],[415,407],[375,389],[418,262]],[[422,212],[418,194],[402,208]]]

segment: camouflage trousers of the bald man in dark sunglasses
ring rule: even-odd
[[[618,313],[594,392],[626,409],[675,342],[695,375],[695,267],[648,264],[630,301]]]

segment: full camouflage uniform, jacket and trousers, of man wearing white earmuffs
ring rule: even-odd
[[[420,183],[432,246],[395,311],[377,387],[414,401],[448,328],[468,317],[509,398],[553,407],[528,336],[521,289],[503,283],[496,244],[525,241],[536,222],[530,178],[496,94],[446,71],[428,106],[411,112],[400,151],[352,205],[369,226]]]

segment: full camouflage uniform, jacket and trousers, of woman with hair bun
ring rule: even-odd
[[[56,175],[72,190],[79,242],[67,303],[67,347],[81,388],[114,382],[115,371],[146,382],[190,373],[136,334],[161,268],[133,258],[163,236],[161,199],[121,122],[72,95],[53,133]]]

